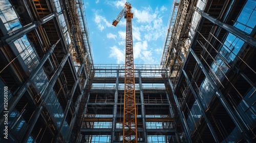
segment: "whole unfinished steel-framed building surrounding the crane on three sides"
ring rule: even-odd
[[[135,142],[256,142],[256,2],[170,7]],[[93,63],[82,0],[0,0],[0,29],[0,142],[123,142],[126,66]]]

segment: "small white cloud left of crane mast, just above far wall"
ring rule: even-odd
[[[110,57],[115,58],[118,64],[120,64],[121,62],[124,62],[124,59],[125,59],[124,50],[122,51],[118,49],[116,45],[110,47],[110,49],[111,49]]]

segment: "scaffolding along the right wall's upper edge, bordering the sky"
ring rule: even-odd
[[[187,40],[193,16],[193,7],[196,1],[175,1],[169,18],[169,28],[164,44],[161,65],[163,69],[169,69],[169,78],[174,89],[181,74],[182,67],[188,53]],[[175,27],[175,28],[174,28]]]

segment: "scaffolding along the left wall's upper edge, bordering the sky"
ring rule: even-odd
[[[71,27],[70,52],[72,52],[74,62],[86,64],[86,71],[90,73],[93,66],[93,53],[83,1],[66,1],[66,5]]]

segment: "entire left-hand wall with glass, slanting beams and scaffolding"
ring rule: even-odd
[[[79,100],[93,61],[87,22],[81,18],[84,15],[63,12],[81,12],[84,7],[82,1],[75,1],[75,7],[72,4],[0,0],[0,90],[8,87],[9,111],[5,124],[5,101],[0,100],[1,130],[8,125],[8,140],[1,136],[0,142],[69,142],[75,138],[71,137],[77,130],[73,127],[83,114],[78,110],[84,108]],[[71,23],[82,26],[83,34],[74,35]],[[86,53],[75,55],[78,49],[73,47],[83,47]],[[80,68],[84,61],[87,64]],[[77,80],[84,83],[76,84]],[[0,97],[4,99],[4,92]]]

